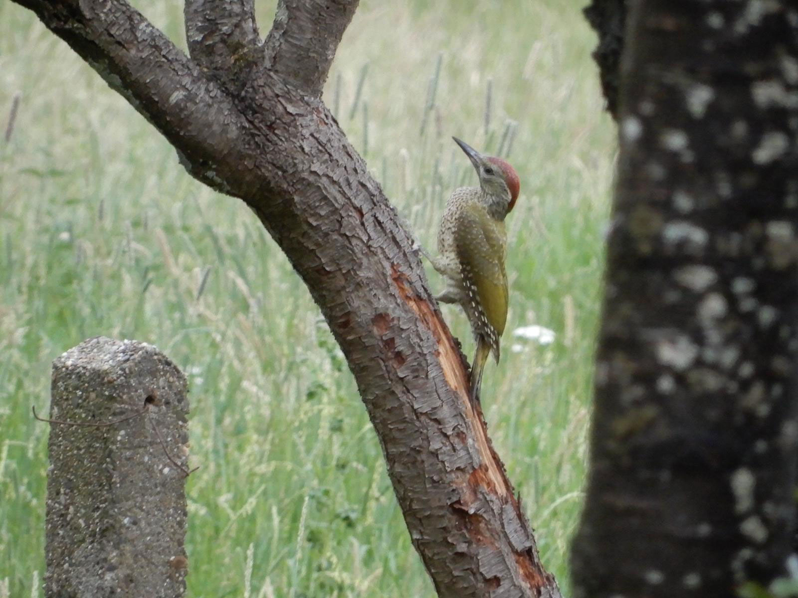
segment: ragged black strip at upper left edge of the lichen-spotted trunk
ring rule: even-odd
[[[618,85],[623,53],[623,30],[626,25],[626,3],[627,0],[593,0],[584,10],[587,22],[599,34],[599,45],[593,52],[593,58],[599,65],[599,78],[606,100],[606,109],[615,120],[618,120]]]

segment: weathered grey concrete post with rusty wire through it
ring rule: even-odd
[[[53,362],[45,596],[184,595],[187,391],[132,340],[85,340]]]

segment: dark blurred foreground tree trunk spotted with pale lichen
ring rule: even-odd
[[[795,528],[798,9],[627,25],[575,596],[726,598]]]

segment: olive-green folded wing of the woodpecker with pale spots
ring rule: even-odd
[[[484,333],[498,359],[499,337],[507,323],[508,309],[504,222],[490,218],[479,205],[462,210],[459,218],[455,227],[455,248],[468,294],[467,309],[475,310],[476,332],[483,332],[482,324],[492,329],[492,334],[491,330]]]

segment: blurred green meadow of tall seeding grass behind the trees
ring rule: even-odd
[[[428,246],[448,192],[475,180],[450,136],[509,151],[519,171],[504,343],[531,324],[556,338],[505,350],[483,401],[565,592],[615,153],[583,3],[363,0],[326,89]],[[136,6],[184,45],[180,2]],[[262,33],[273,10],[259,5]],[[97,335],[156,344],[189,377],[189,596],[433,596],[342,355],[250,210],[188,177],[65,44],[0,0],[2,129],[16,92],[0,138],[0,596],[43,593],[48,428],[30,406],[47,411],[53,358]],[[470,353],[464,317],[444,315]]]

